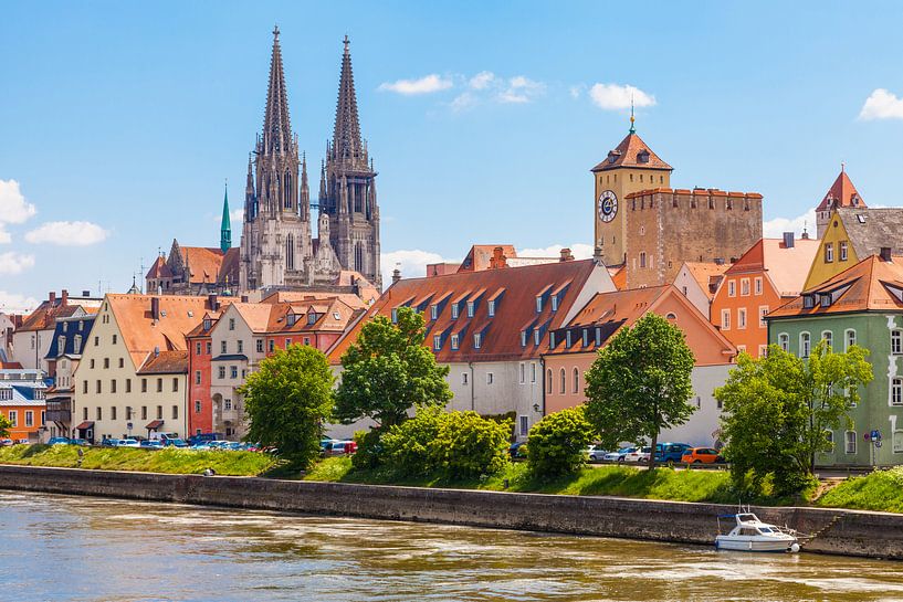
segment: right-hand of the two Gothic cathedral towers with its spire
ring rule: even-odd
[[[332,141],[326,145],[326,165],[321,171],[319,211],[328,215],[330,246],[342,265],[382,288],[376,171],[367,144],[360,137],[347,35],[344,44],[335,128]],[[323,237],[321,235],[321,240]]]

